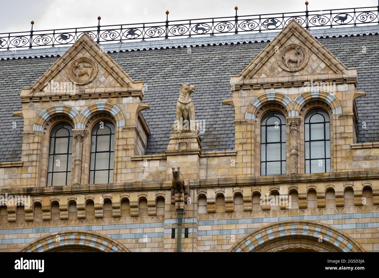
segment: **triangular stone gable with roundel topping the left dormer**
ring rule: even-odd
[[[22,93],[22,97],[56,95],[54,85],[73,83],[80,92],[140,90],[124,70],[106,54],[87,33],[61,56],[45,73]],[[60,88],[64,86],[61,85]],[[56,91],[55,87],[55,91]],[[70,87],[69,87],[70,89]]]

